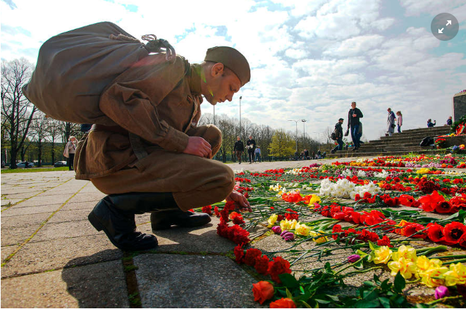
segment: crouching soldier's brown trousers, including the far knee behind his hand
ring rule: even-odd
[[[209,141],[212,156],[219,151],[221,132],[215,126],[197,127],[187,133]],[[136,166],[130,164],[111,175],[92,178],[92,184],[105,194],[172,192],[178,207],[185,211],[223,201],[233,190],[233,170],[219,161],[158,147],[147,152]]]

